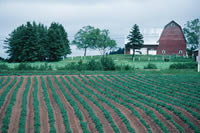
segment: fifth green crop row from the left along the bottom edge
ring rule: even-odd
[[[47,80],[48,80],[48,83],[49,83],[49,87],[50,87],[50,89],[52,91],[52,95],[54,97],[54,100],[56,101],[56,103],[57,103],[57,105],[58,105],[58,107],[60,109],[60,112],[62,114],[62,117],[64,119],[64,125],[65,125],[65,129],[66,129],[66,133],[72,133],[72,130],[71,130],[70,124],[69,124],[68,115],[67,115],[67,110],[65,109],[65,107],[64,107],[63,103],[61,102],[58,94],[56,93],[56,90],[53,87],[53,83],[52,83],[52,81],[51,81],[49,76],[47,77]]]

